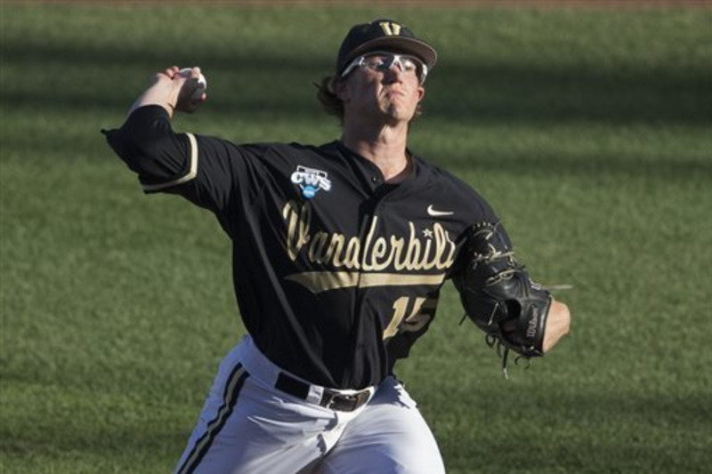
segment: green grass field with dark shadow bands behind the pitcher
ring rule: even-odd
[[[100,129],[175,63],[209,82],[177,129],[330,141],[312,83],[384,16],[441,53],[411,148],[575,285],[508,382],[446,286],[399,374],[449,472],[708,471],[712,11],[226,5],[2,6],[0,470],[172,470],[243,333],[217,223],[144,197]]]

